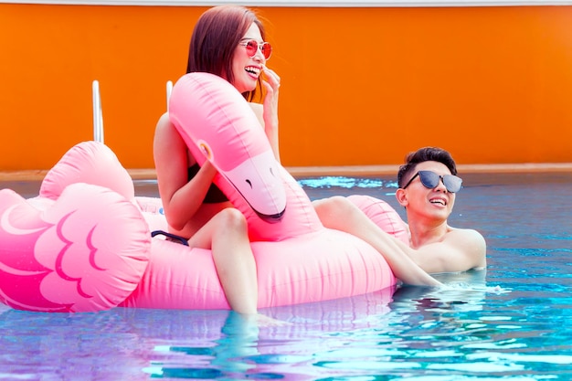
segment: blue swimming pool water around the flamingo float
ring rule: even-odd
[[[403,213],[390,178],[300,181],[312,198],[366,194]],[[446,290],[406,287],[261,311],[291,323],[279,327],[221,311],[1,306],[0,379],[572,378],[572,174],[463,178],[450,225],[482,232],[488,269],[440,275]],[[156,195],[154,182],[136,188]]]

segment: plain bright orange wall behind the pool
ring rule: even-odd
[[[204,7],[0,4],[0,170],[46,169],[92,138],[153,167],[165,81]],[[283,164],[572,162],[572,6],[259,8],[281,86]]]

